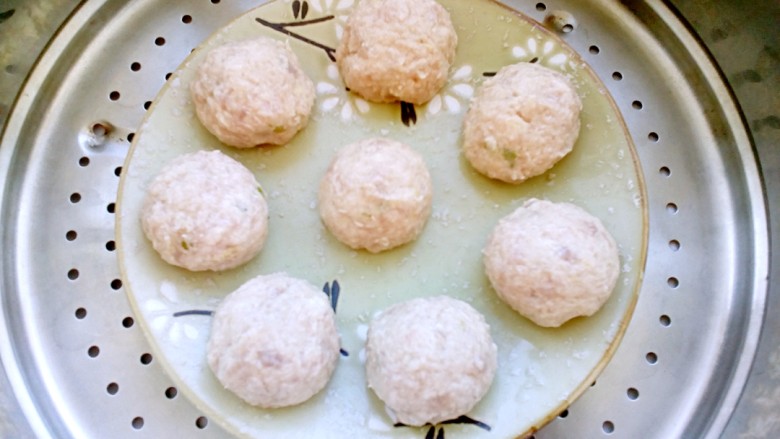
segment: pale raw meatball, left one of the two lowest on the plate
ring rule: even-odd
[[[322,390],[339,359],[328,297],[284,273],[258,276],[217,307],[209,367],[226,389],[262,408],[300,404]]]

